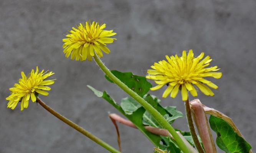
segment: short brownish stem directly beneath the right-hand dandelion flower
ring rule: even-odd
[[[189,99],[187,99],[185,101],[185,107],[186,107],[186,115],[187,115],[187,120],[188,120],[188,126],[189,126],[189,129],[190,129],[190,133],[191,133],[191,136],[193,138],[193,141],[195,143],[195,146],[197,147],[197,150],[198,150],[199,153],[205,153],[205,151],[203,150],[203,147],[201,146],[201,144],[198,140],[197,132],[196,132],[195,126],[193,124]]]

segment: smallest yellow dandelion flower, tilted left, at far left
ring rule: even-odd
[[[14,109],[19,102],[20,110],[28,107],[28,101],[31,99],[32,102],[36,101],[36,96],[38,94],[42,94],[47,96],[49,93],[44,90],[51,90],[50,87],[46,85],[52,85],[54,80],[45,80],[46,78],[53,75],[53,72],[38,72],[38,67],[36,67],[36,71],[33,69],[31,73],[26,77],[24,72],[21,72],[21,78],[18,83],[15,83],[12,88],[10,88],[11,94],[6,98],[8,100],[7,107]]]

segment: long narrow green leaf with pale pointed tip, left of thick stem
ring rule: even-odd
[[[109,102],[112,106],[114,106],[119,112],[121,112],[127,119],[129,119],[155,146],[162,146],[160,145],[161,137],[159,135],[155,135],[153,133],[148,132],[144,125],[142,124],[142,116],[145,112],[143,107],[140,107],[136,111],[134,111],[131,115],[127,115],[122,107],[117,104],[114,99],[112,99],[106,91],[101,92],[93,88],[92,86],[88,85],[88,88],[91,89],[96,96],[105,99]]]

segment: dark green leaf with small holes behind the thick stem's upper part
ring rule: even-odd
[[[148,82],[145,77],[134,75],[132,72],[119,72],[117,70],[111,70],[111,72],[141,97],[149,92],[149,89],[152,87],[151,83]],[[105,78],[113,83],[113,81],[106,75]]]

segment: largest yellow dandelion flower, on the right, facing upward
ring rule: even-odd
[[[217,66],[206,68],[210,65],[212,59],[210,59],[210,56],[206,56],[203,59],[203,56],[204,53],[202,52],[198,57],[194,57],[193,50],[189,50],[188,55],[184,50],[181,57],[178,57],[178,55],[170,57],[166,55],[167,61],[162,60],[154,63],[151,66],[154,70],[147,70],[149,75],[146,78],[156,80],[155,83],[158,84],[150,89],[158,90],[162,86],[167,85],[168,87],[162,95],[163,98],[166,98],[169,94],[172,98],[175,98],[178,90],[181,89],[182,100],[186,101],[188,99],[188,91],[190,91],[192,96],[197,96],[195,85],[202,93],[207,96],[213,96],[214,93],[209,87],[217,89],[218,86],[204,77],[218,79],[222,73],[215,72],[220,70]]]

